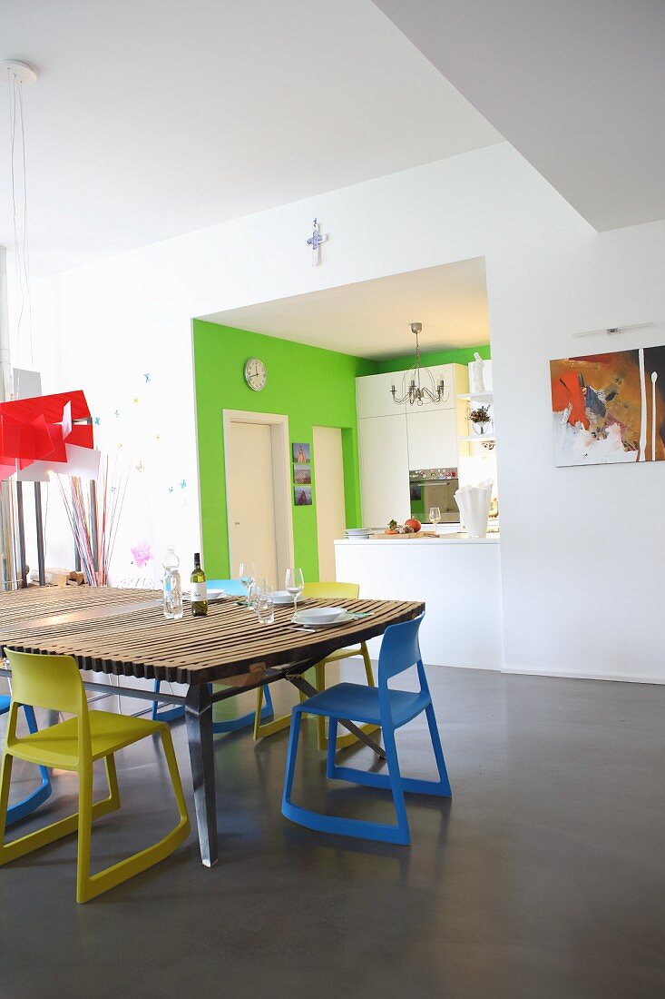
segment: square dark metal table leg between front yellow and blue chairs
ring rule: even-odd
[[[194,803],[199,826],[201,859],[206,867],[217,863],[217,798],[213,752],[213,702],[207,683],[192,684],[185,698],[187,741],[190,747]]]

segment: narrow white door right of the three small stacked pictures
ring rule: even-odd
[[[314,427],[319,578],[334,579],[334,538],[344,536],[344,467],[338,427]]]

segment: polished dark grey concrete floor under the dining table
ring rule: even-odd
[[[200,865],[193,835],[84,906],[73,837],[2,868],[0,997],[663,996],[665,687],[428,675],[454,797],[409,798],[410,847],[290,824],[287,733],[220,736],[220,864]],[[307,727],[300,799],[387,818],[384,794],[327,786]],[[434,775],[423,724],[398,746],[406,775]],[[100,866],[175,815],[152,740],[119,763],[124,808],[96,827]],[[75,804],[72,779],[55,784],[43,817]]]

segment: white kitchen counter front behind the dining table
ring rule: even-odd
[[[500,669],[503,663],[499,535],[335,540],[337,579],[367,599],[424,600],[425,665]],[[380,639],[369,643],[378,657]]]

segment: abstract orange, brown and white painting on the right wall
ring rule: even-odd
[[[554,464],[665,461],[665,347],[550,361]]]

